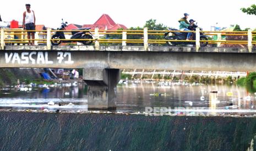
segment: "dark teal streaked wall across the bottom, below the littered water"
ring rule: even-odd
[[[0,112],[0,119],[0,150],[246,150],[256,133],[256,118]]]

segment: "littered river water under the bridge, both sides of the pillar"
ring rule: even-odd
[[[88,111],[88,87],[58,85],[20,91],[0,91],[0,109]],[[145,112],[168,108],[172,113],[256,114],[255,95],[236,85],[182,85],[139,82],[117,86],[117,109],[112,112]],[[55,105],[48,105],[49,102]],[[62,106],[59,106],[62,104]]]

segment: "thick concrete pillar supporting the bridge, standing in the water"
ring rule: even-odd
[[[83,69],[83,79],[88,85],[88,109],[116,108],[119,69]]]

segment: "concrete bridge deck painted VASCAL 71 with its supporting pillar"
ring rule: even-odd
[[[193,47],[6,46],[0,51],[2,68],[83,68],[89,85],[88,108],[116,107],[119,69],[175,69],[200,71],[256,71],[256,49]]]

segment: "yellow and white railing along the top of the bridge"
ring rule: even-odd
[[[4,29],[1,28],[1,38],[0,44],[1,49],[4,49],[4,46],[7,44],[27,44],[28,40],[34,40],[35,44],[45,44],[47,45],[47,49],[51,49],[51,41],[52,40],[69,40],[69,39],[52,39],[51,36],[58,32],[59,30],[51,30],[48,28],[47,30],[31,30],[30,32],[35,32],[35,39],[26,38],[27,30],[17,30],[17,29]],[[72,30],[64,30],[64,34],[70,35]],[[84,30],[76,30],[76,31],[84,31]],[[209,44],[215,44],[216,47],[221,47],[224,44],[233,44],[233,45],[247,45],[248,50],[252,51],[252,46],[256,44],[256,41],[253,40],[253,36],[256,36],[256,32],[252,30],[248,31],[200,31],[197,28],[196,31],[161,31],[161,30],[148,30],[148,28],[144,28],[143,30],[99,30],[99,28],[95,28],[95,30],[85,30],[90,31],[93,35],[93,40],[95,49],[100,49],[100,43],[122,43],[123,46],[127,44],[141,44],[144,45],[144,50],[148,50],[150,44],[165,44],[167,42],[194,42],[196,50],[200,49],[200,43],[208,42]],[[164,39],[163,36],[165,32],[193,32],[195,33],[195,40],[168,40]],[[209,40],[200,40],[200,33],[203,32],[206,36],[209,36]],[[104,36],[106,35],[119,35],[119,39],[106,39]],[[127,36],[136,35],[138,39],[128,39]],[[149,39],[149,36],[162,36],[157,37],[156,39]],[[169,34],[170,36],[171,34]],[[212,40],[215,36],[216,40]],[[233,36],[233,39],[223,39],[222,36]],[[122,37],[122,38],[121,38]],[[85,41],[86,39],[72,39],[75,41]]]

